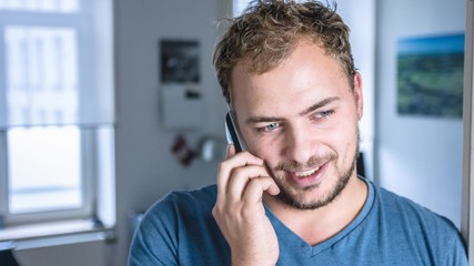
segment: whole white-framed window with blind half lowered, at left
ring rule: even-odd
[[[0,0],[0,226],[97,215],[113,152],[110,6]]]

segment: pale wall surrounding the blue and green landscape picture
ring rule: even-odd
[[[399,38],[464,32],[464,0],[377,1],[379,183],[461,223],[462,120],[396,114]]]

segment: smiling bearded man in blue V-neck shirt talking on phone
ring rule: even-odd
[[[259,1],[214,64],[249,150],[152,206],[130,265],[467,265],[450,221],[356,175],[362,79],[334,10]]]

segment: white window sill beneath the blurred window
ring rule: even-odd
[[[13,242],[16,249],[112,241],[112,227],[97,227],[91,221],[67,221],[0,229],[0,242]]]

